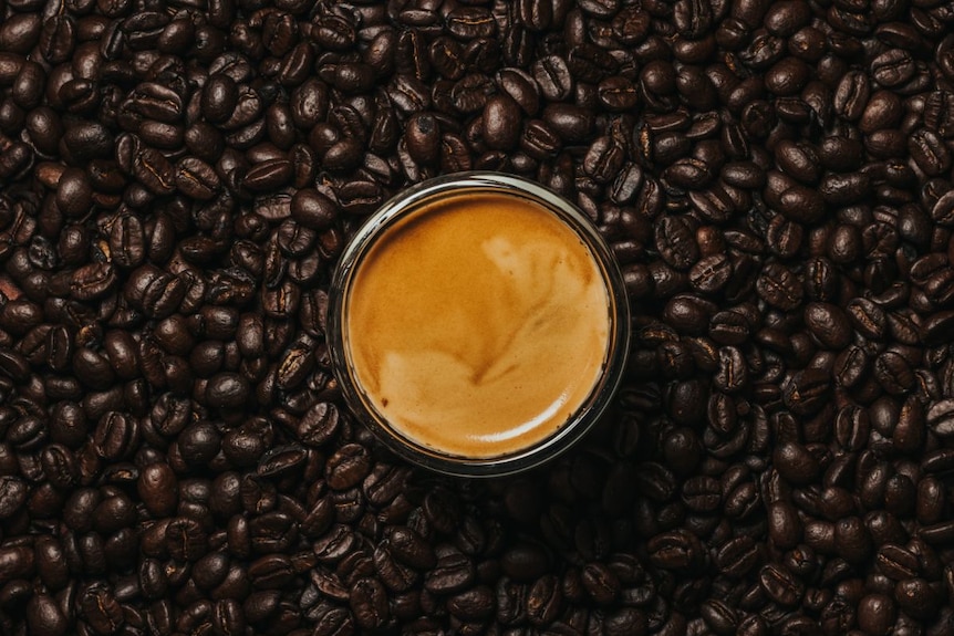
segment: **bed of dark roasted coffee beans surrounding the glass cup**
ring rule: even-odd
[[[0,634],[954,630],[954,3],[0,0]],[[600,227],[612,413],[439,478],[343,243],[494,169]]]

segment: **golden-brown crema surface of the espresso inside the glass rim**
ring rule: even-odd
[[[387,228],[344,317],[355,382],[405,437],[492,458],[551,436],[599,382],[612,331],[597,259],[559,217],[450,195]]]

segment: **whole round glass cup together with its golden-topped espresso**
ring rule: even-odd
[[[349,406],[397,455],[491,477],[580,439],[619,386],[630,313],[590,220],[526,179],[464,173],[385,204],[332,280]]]

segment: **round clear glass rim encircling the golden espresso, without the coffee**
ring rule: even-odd
[[[588,397],[569,419],[546,439],[494,457],[468,457],[428,447],[402,432],[377,407],[374,396],[362,386],[351,351],[360,333],[349,333],[349,306],[355,273],[371,248],[394,223],[422,207],[460,195],[497,194],[517,197],[546,208],[572,230],[589,250],[602,274],[609,307],[609,329],[602,371]],[[328,336],[335,376],[351,409],[372,432],[398,456],[425,468],[459,477],[497,477],[540,466],[569,449],[598,421],[618,388],[630,338],[630,310],[625,285],[612,252],[590,219],[575,206],[551,190],[527,179],[490,171],[471,171],[434,178],[395,196],[372,215],[344,248],[333,274],[329,294]]]

